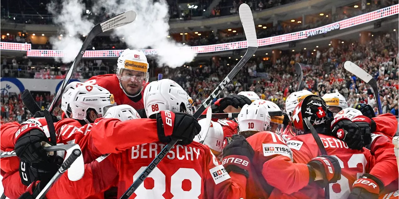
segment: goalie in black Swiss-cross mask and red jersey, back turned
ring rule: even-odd
[[[346,126],[352,126],[355,130],[358,128],[356,124],[347,121],[345,125],[338,120],[333,120],[327,116],[326,103],[322,98],[310,95],[304,98],[292,113],[292,122],[296,129],[295,137],[292,137],[287,145],[292,149],[294,162],[306,163],[310,159],[320,155],[318,146],[304,122],[307,118],[319,134],[321,141],[328,155],[334,155],[340,162],[342,169],[341,179],[336,183],[329,184],[331,198],[348,198],[350,188],[358,179],[359,175],[363,175],[370,171],[373,165],[373,157],[368,149],[352,150],[348,145],[332,136],[330,124],[337,134],[342,133]],[[338,125],[338,127],[336,127]],[[286,175],[284,172],[275,171],[275,177]],[[315,196],[318,193],[318,196]],[[324,197],[323,189],[316,185],[309,185],[300,191],[288,195],[281,195],[284,198],[321,198]]]

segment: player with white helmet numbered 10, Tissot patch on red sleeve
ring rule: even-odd
[[[245,105],[241,110],[238,123],[239,135],[234,135],[230,145],[250,145],[255,151],[251,167],[245,167],[249,173],[247,182],[247,198],[268,198],[273,189],[283,193],[292,193],[313,181],[336,181],[340,175],[338,161],[334,157],[325,156],[309,160],[305,164],[292,163],[292,151],[284,139],[276,133],[265,131],[271,119],[267,108],[263,105]],[[246,140],[245,140],[246,137]],[[223,163],[230,162],[225,157],[223,149]],[[328,171],[328,165],[332,173]],[[332,167],[331,167],[332,166]],[[285,175],[276,177],[273,173],[278,170]]]

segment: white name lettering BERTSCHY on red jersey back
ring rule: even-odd
[[[145,143],[132,147],[132,159],[151,158],[153,159],[165,147],[162,143]],[[193,161],[199,157],[199,149],[196,147],[176,144],[166,155],[169,159],[186,159]]]

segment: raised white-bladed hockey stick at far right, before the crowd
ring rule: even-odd
[[[361,69],[358,65],[354,64],[353,62],[346,61],[344,64],[345,70],[351,72],[352,74],[356,75],[358,78],[366,82],[366,84],[369,84],[371,88],[373,89],[374,96],[377,99],[377,104],[378,104],[378,114],[382,114],[382,107],[381,107],[381,99],[379,99],[379,92],[378,92],[378,86],[377,86],[377,81],[365,72],[363,69]]]

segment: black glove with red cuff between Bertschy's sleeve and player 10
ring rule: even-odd
[[[254,153],[243,135],[233,135],[230,143],[223,148],[223,166],[228,173],[234,171],[248,178]]]

